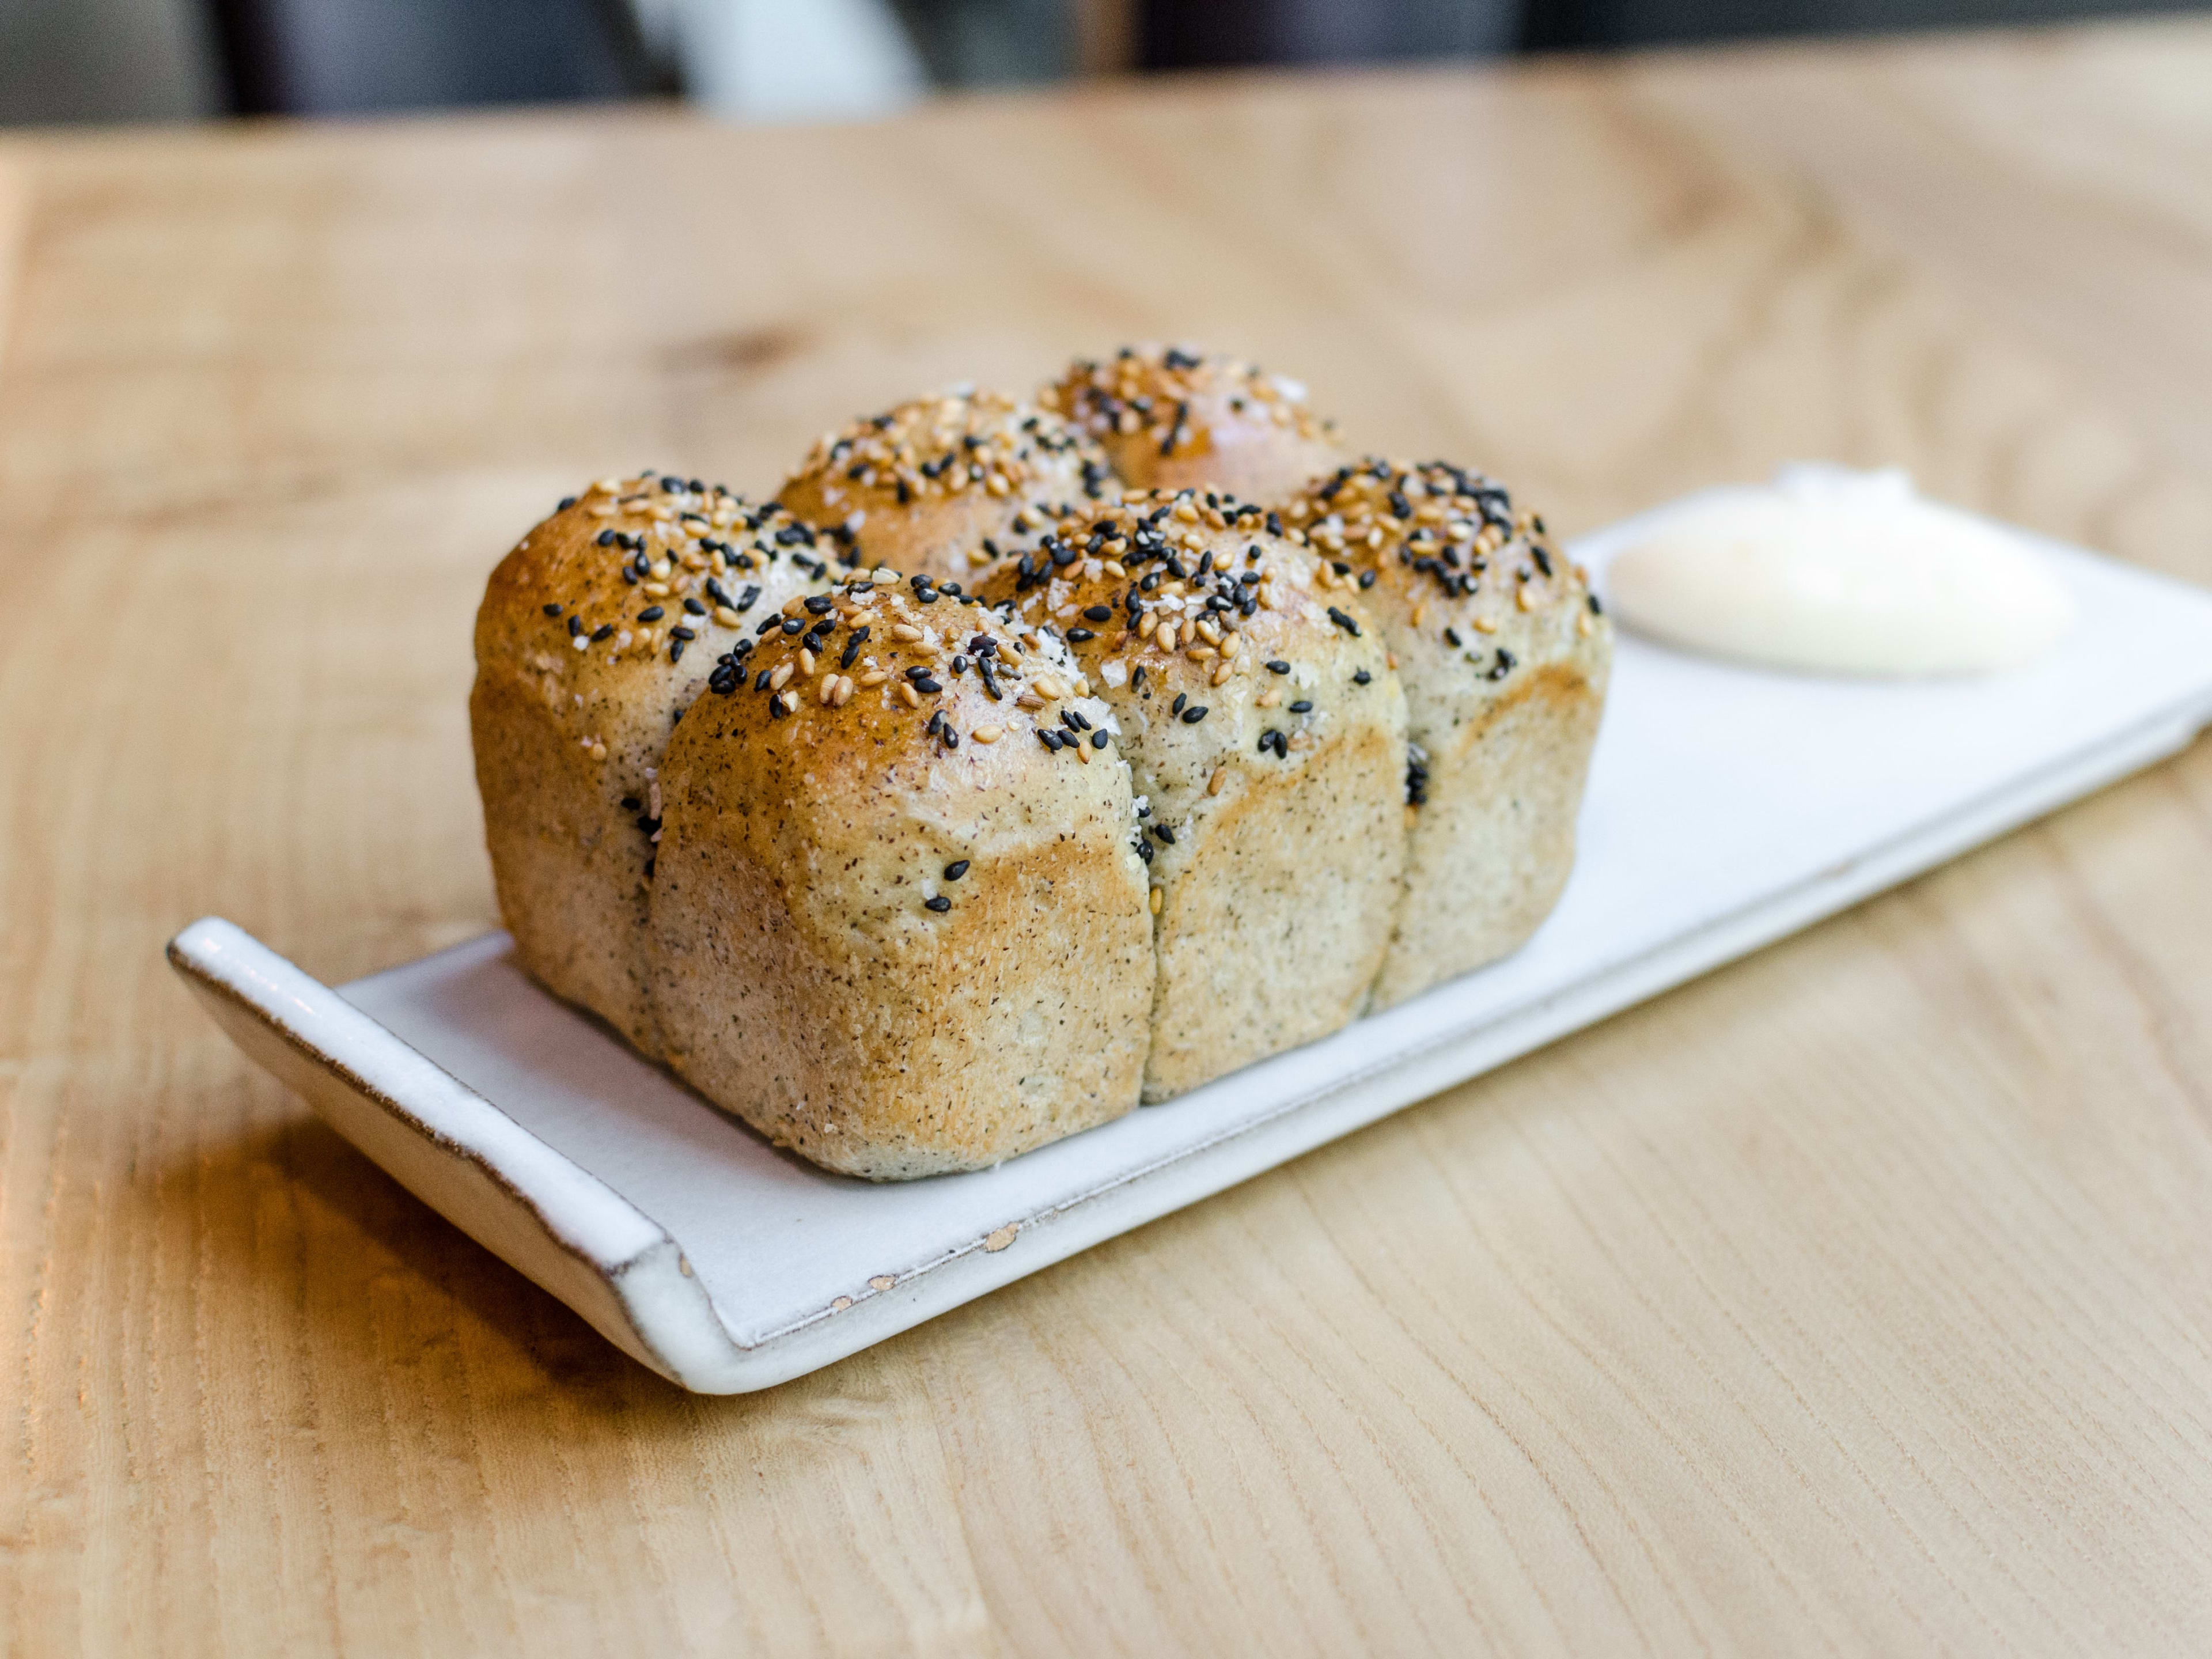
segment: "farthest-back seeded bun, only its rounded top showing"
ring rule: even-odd
[[[1130,489],[1210,484],[1276,502],[1345,460],[1305,387],[1181,345],[1077,361],[1037,400],[1095,438]]]

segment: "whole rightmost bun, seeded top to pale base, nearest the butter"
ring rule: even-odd
[[[1376,980],[1389,1006],[1517,949],[1557,902],[1613,626],[1544,520],[1480,473],[1369,460],[1283,518],[1358,580],[1405,679],[1413,807]]]

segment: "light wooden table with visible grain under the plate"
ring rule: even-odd
[[[0,1650],[2212,1650],[2212,750],[688,1398],[161,964],[493,922],[575,480],[1126,336],[1582,529],[1792,456],[2212,580],[2212,27],[0,148]]]

